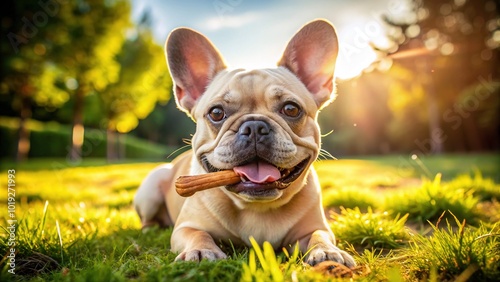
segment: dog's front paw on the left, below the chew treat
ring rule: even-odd
[[[215,244],[214,239],[205,231],[190,227],[175,228],[172,233],[172,250],[183,250],[176,261],[209,261],[225,259],[227,255]]]

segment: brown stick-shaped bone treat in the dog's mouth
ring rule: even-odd
[[[240,176],[233,170],[221,170],[200,175],[179,176],[175,181],[175,190],[182,197],[219,186],[241,182]]]

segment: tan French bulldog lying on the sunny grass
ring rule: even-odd
[[[354,259],[335,245],[312,163],[320,151],[317,114],[333,98],[338,41],[325,20],[303,26],[277,67],[229,70],[216,47],[188,28],[165,44],[178,107],[195,122],[192,150],[141,183],[134,206],[144,228],[173,226],[176,261],[224,259],[216,242],[276,249],[298,244],[305,261]],[[175,179],[233,169],[242,179],[182,198]]]

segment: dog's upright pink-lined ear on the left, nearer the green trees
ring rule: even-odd
[[[210,81],[226,68],[224,60],[208,38],[189,28],[172,31],[165,51],[177,105],[191,114]]]

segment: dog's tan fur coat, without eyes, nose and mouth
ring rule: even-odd
[[[203,75],[200,75],[199,69],[195,73],[198,78],[194,80],[193,76],[186,75],[186,72],[190,73],[187,64],[194,64],[193,60],[183,63],[177,59],[193,52],[189,49],[189,54],[183,53],[183,40],[187,40],[186,46],[191,46],[189,38],[201,40],[199,34],[193,35],[193,32],[187,29],[174,32],[171,35],[173,39],[167,42],[167,53],[168,50],[181,52],[177,56],[169,54],[169,68],[176,82],[179,106],[197,122],[192,138],[193,149],[173,164],[156,168],[139,187],[134,205],[143,226],[155,222],[162,226],[174,225],[171,249],[179,253],[176,260],[222,259],[226,254],[218,247],[219,241],[250,245],[249,238],[252,236],[259,243],[270,242],[275,249],[289,248],[297,243],[303,252],[311,249],[306,261],[312,265],[334,260],[354,266],[352,257],[335,246],[335,237],[321,205],[318,179],[311,166],[320,148],[317,113],[332,95],[331,80],[337,50],[333,50],[335,53],[332,54],[331,50],[321,49],[323,45],[336,47],[331,25],[324,21],[307,25],[292,39],[292,46],[289,44],[281,60],[294,64],[295,57],[290,57],[290,54],[300,59],[301,55],[312,56],[310,49],[321,49],[319,51],[327,53],[325,58],[328,61],[318,66],[308,65],[307,68],[313,69],[313,72],[301,69],[304,67],[301,62],[293,68],[283,63],[276,69],[223,69],[213,76],[213,69],[207,67],[207,81],[200,80]],[[315,45],[307,49],[309,43],[303,40],[309,40],[311,33],[316,43],[313,42]],[[302,46],[301,43],[306,44],[301,47],[307,49],[306,54],[300,50],[294,53],[294,46]],[[169,45],[175,45],[175,48],[169,49]],[[203,55],[198,57],[208,57],[208,63],[194,65],[224,65],[222,57],[211,49],[211,44],[204,43],[203,46],[208,50],[205,53],[201,50]],[[171,61],[171,57],[176,60]],[[307,61],[304,58],[301,60]],[[325,80],[328,77],[329,80]],[[182,85],[186,81],[190,81],[187,87]],[[200,94],[200,89],[205,88]],[[304,116],[293,122],[283,117],[277,109],[286,101],[299,104]],[[213,105],[224,105],[225,111],[230,113],[220,128],[207,119],[207,112]],[[200,161],[202,156],[218,169],[232,169],[241,161],[235,140],[238,139],[240,126],[248,120],[263,121],[272,129],[273,148],[266,151],[266,160],[277,167],[291,168],[309,159],[304,172],[289,187],[277,190],[267,198],[230,192],[224,187],[201,191],[189,198],[177,195],[174,181],[178,176],[206,173]]]

